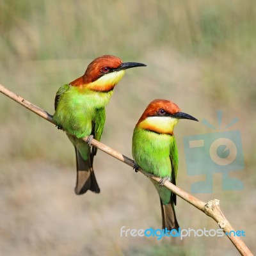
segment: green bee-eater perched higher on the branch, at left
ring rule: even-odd
[[[64,84],[56,93],[53,120],[59,129],[67,132],[76,149],[77,195],[88,189],[100,192],[93,172],[93,157],[97,148],[91,147],[90,141],[93,137],[100,140],[106,118],[105,106],[115,85],[124,76],[125,69],[143,66],[146,65],[104,55],[93,60],[83,76]],[[85,136],[90,136],[88,143],[81,140]]]

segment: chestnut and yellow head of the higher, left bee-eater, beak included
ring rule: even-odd
[[[82,77],[71,82],[72,86],[81,86],[99,92],[113,90],[122,79],[125,69],[146,66],[143,63],[123,62],[112,55],[100,56],[93,60]]]

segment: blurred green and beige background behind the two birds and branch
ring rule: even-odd
[[[217,125],[239,122],[245,168],[230,177],[244,189],[212,194],[256,252],[256,4],[253,0],[0,1],[0,83],[49,113],[58,88],[102,54],[147,63],[127,70],[107,107],[102,142],[131,157],[134,125],[148,102],[173,100],[182,111]],[[75,153],[67,136],[0,95],[0,248],[3,255],[238,255],[227,237],[120,237],[120,228],[161,228],[154,186],[129,166],[98,152],[101,193],[74,194]],[[213,132],[202,122],[175,129],[177,184],[190,192],[183,136]],[[218,225],[178,198],[181,228]]]

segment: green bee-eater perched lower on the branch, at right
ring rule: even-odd
[[[136,124],[132,136],[132,156],[135,170],[161,178],[161,182],[152,180],[161,202],[163,228],[178,229],[174,205],[176,195],[163,186],[166,180],[176,184],[178,171],[178,151],[173,128],[179,119],[198,121],[195,117],[180,112],[179,107],[169,101],[156,99],[150,102]]]

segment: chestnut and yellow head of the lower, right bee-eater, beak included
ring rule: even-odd
[[[180,108],[169,100],[156,99],[148,104],[136,127],[159,134],[173,134],[173,127],[179,119],[198,121],[195,117],[180,112]]]

